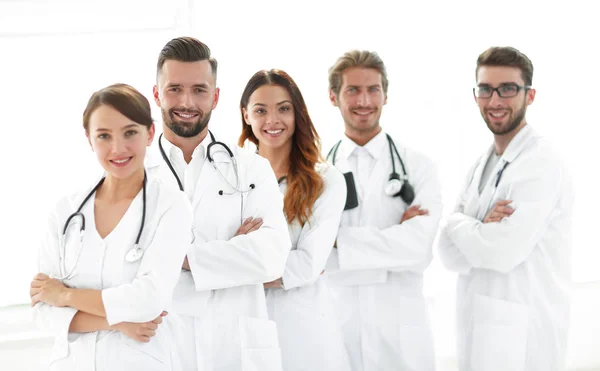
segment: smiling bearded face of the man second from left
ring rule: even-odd
[[[208,126],[219,101],[219,89],[208,60],[180,62],[167,60],[154,87],[154,99],[161,108],[167,129],[177,136],[192,138]]]

